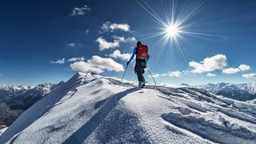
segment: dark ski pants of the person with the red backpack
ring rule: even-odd
[[[145,68],[146,68],[146,59],[136,59],[134,70],[138,76],[138,82],[145,82],[145,78],[143,77]]]

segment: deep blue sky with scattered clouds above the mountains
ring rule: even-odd
[[[0,85],[56,83],[77,71],[121,78],[137,40],[149,46],[157,82],[255,82],[255,6],[250,0],[1,2]],[[168,35],[163,24],[175,25],[177,34]],[[137,79],[133,64],[125,78]]]

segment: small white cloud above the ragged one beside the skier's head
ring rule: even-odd
[[[102,30],[105,30],[106,32],[113,32],[114,30],[123,30],[123,31],[130,31],[130,26],[126,23],[111,23],[111,22],[105,22],[102,25]]]

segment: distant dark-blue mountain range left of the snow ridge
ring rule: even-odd
[[[62,83],[64,82],[60,82],[57,85],[44,83],[38,86],[0,87],[0,129],[10,126],[23,111]]]

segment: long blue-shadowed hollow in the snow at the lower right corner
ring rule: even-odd
[[[255,131],[249,130],[238,123],[230,123],[229,120],[219,117],[219,122],[222,122],[222,124],[219,124],[218,122],[202,118],[197,114],[186,115],[170,113],[162,114],[162,118],[174,126],[190,130],[194,134],[198,134],[212,142],[230,144],[255,142]]]

